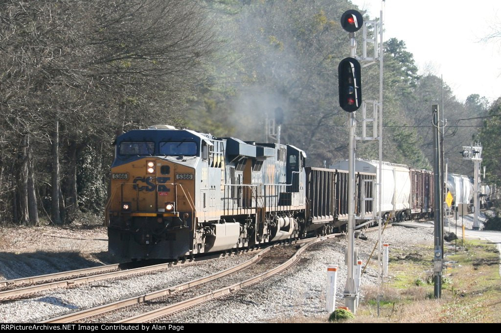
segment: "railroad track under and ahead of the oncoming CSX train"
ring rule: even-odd
[[[144,274],[174,266],[182,266],[196,261],[216,259],[231,254],[214,254],[197,257],[184,261],[174,261],[146,267],[121,269],[121,264],[77,269],[54,274],[45,274],[0,282],[0,302],[31,297],[41,291],[73,287],[85,283],[124,277],[135,274]]]

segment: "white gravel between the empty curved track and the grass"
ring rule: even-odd
[[[383,242],[400,248],[413,244],[432,244],[432,230],[403,227],[387,228]],[[359,259],[367,261],[377,238],[377,232],[367,233],[368,240],[356,240]],[[338,280],[336,300],[344,306],[342,295],[347,270],[344,265],[346,238],[334,239],[315,245],[313,251],[303,256],[310,258],[306,264],[271,277],[265,283],[252,287],[251,294],[228,296],[224,299],[206,302],[201,306],[169,317],[171,322],[276,322],[288,317],[325,315],[325,288],[327,265],[337,264]],[[391,251],[391,249],[390,249]],[[364,286],[376,285],[377,272],[370,266],[361,277]]]

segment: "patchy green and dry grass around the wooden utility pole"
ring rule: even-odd
[[[438,300],[433,298],[434,286],[427,279],[433,252],[429,246],[407,251],[412,251],[412,256],[405,250],[393,253],[392,278],[383,287],[380,315],[377,315],[377,287],[365,286],[357,315],[347,322],[501,322],[499,253],[491,244],[468,242],[456,255],[449,249],[446,260],[458,263],[443,272],[446,280]],[[327,322],[327,319],[328,315],[297,314],[278,322]]]

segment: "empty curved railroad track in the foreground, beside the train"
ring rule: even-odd
[[[194,306],[277,274],[299,260],[310,245],[333,238],[299,240],[289,246],[272,246],[258,252],[249,260],[186,283],[131,297],[95,308],[63,315],[43,322],[139,322],[154,320],[174,311]],[[303,245],[299,247],[300,245]],[[123,319],[126,318],[126,319]]]

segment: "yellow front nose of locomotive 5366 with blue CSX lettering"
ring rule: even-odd
[[[166,240],[183,239],[194,216],[194,179],[193,168],[160,157],[113,167],[107,217],[109,244],[117,246],[110,252],[148,258],[163,248],[162,242],[167,246]],[[179,250],[186,252],[184,247]],[[154,256],[170,257],[164,250]]]

